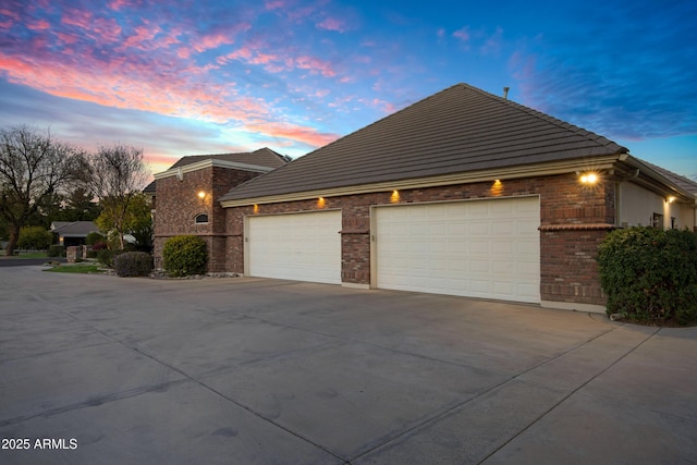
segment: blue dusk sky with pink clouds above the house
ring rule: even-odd
[[[0,126],[293,158],[456,83],[697,180],[697,2],[0,0]]]

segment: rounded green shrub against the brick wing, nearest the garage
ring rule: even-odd
[[[164,270],[172,277],[204,274],[208,253],[206,241],[197,235],[180,235],[167,240],[162,249]]]

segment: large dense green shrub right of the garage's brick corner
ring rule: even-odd
[[[608,314],[648,325],[697,322],[697,234],[616,230],[600,245],[598,262]]]

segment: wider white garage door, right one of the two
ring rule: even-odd
[[[540,302],[538,197],[378,207],[377,286]]]

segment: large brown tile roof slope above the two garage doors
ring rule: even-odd
[[[456,84],[221,200],[625,154],[612,140],[467,84]]]

